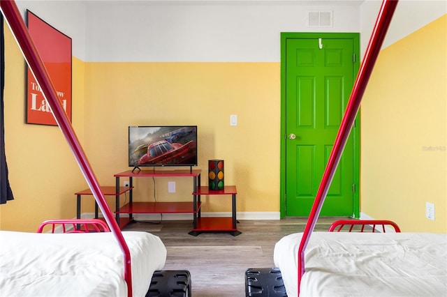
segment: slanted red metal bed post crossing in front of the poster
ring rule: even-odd
[[[15,4],[14,0],[1,0],[0,1],[0,9],[1,13],[5,17],[6,22],[10,26],[17,43],[22,50],[22,54],[24,55],[25,60],[27,61],[29,68],[31,68],[31,72],[36,77],[36,81],[43,91],[43,95],[50,105],[52,112],[54,114],[54,118],[59,125],[62,133],[64,134],[68,145],[71,147],[73,151],[73,155],[75,156],[78,165],[84,175],[87,183],[89,184],[89,188],[93,193],[98,206],[101,208],[101,211],[105,217],[106,222],[108,223],[112,233],[115,235],[115,238],[119,242],[119,246],[124,254],[124,280],[126,280],[128,287],[128,296],[132,296],[132,276],[131,276],[131,254],[129,252],[129,247],[124,241],[124,237],[122,236],[121,230],[115,218],[113,217],[110,208],[108,207],[107,202],[105,201],[104,195],[101,192],[101,188],[99,186],[98,180],[94,175],[93,170],[87,160],[87,156],[80,145],[78,137],[76,137],[75,132],[73,130],[73,126],[71,125],[64,108],[59,102],[57,98],[57,93],[52,85],[50,80],[50,76],[47,73],[45,66],[41,60],[41,57],[38,55],[36,47],[29,36],[29,32],[27,27],[22,20],[22,16]]]

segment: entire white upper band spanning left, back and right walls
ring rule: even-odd
[[[82,61],[280,61],[281,32],[360,32],[365,52],[380,0],[16,0],[70,36]],[[309,28],[307,11],[333,26]],[[383,47],[447,13],[445,0],[400,0]],[[442,38],[442,36],[440,36]]]

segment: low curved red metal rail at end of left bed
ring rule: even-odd
[[[81,220],[46,220],[38,227],[37,233],[42,233],[46,226],[51,227],[51,233],[54,233],[57,226],[61,226],[62,233],[88,233],[88,232],[110,232],[105,222],[98,219]],[[67,227],[68,226],[68,227]],[[70,228],[70,229],[68,229]]]

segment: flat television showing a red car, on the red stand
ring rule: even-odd
[[[129,126],[129,167],[197,166],[197,126]]]

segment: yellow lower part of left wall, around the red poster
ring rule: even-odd
[[[14,200],[0,205],[0,229],[36,231],[50,218],[76,215],[74,192],[85,187],[56,126],[25,124],[25,63],[5,26],[5,142]],[[73,126],[84,134],[84,63],[73,58]]]

